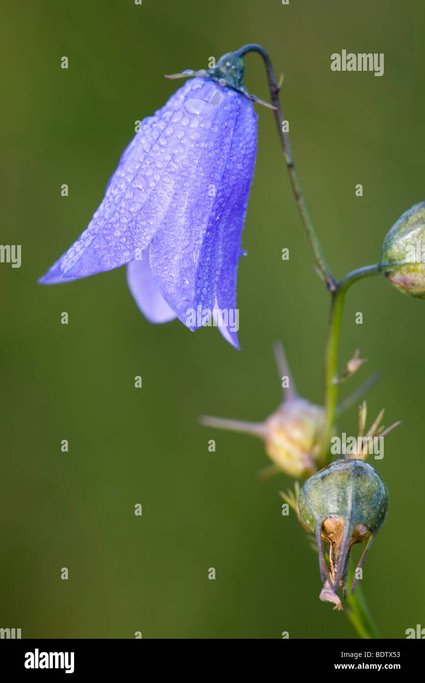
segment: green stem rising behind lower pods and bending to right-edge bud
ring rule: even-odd
[[[338,385],[334,383],[337,376],[336,363],[338,361],[338,344],[340,339],[342,311],[344,309],[345,294],[349,287],[357,280],[379,273],[379,264],[364,266],[352,270],[340,283],[337,284],[335,292],[332,292],[331,315],[327,331],[327,342],[325,348],[325,431],[323,436],[322,460],[327,464],[330,460],[329,442],[334,426],[336,400],[338,397]]]

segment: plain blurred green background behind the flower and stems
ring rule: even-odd
[[[1,242],[22,245],[22,266],[0,265],[1,627],[42,638],[353,635],[343,613],[319,602],[317,555],[295,516],[281,514],[278,492],[292,480],[259,482],[269,463],[260,441],[197,422],[201,413],[258,421],[276,408],[276,338],[299,391],[323,401],[329,301],[272,112],[257,107],[240,352],[213,328],[149,324],[124,268],[53,287],[37,279],[89,223],[134,121],[182,84],[163,75],[205,68],[247,42],[284,71],[295,160],[334,272],[376,262],[387,230],[425,199],[424,29],[420,0],[5,5]],[[385,53],[384,75],[332,72],[330,55],[343,48]],[[268,100],[260,57],[246,65],[248,89]],[[357,346],[369,360],[344,393],[377,369],[369,421],[382,407],[387,425],[402,419],[372,462],[390,511],[362,587],[383,637],[425,626],[424,337],[423,301],[381,277],[349,292],[340,367]],[[357,434],[355,409],[340,430]]]

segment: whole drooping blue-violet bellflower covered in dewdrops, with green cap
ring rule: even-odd
[[[130,292],[147,320],[179,318],[194,330],[209,318],[239,348],[237,265],[257,115],[234,55],[201,75],[182,74],[194,78],[143,120],[91,223],[40,283],[128,264]]]

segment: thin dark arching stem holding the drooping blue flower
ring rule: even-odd
[[[325,256],[323,255],[323,251],[321,249],[319,238],[317,237],[316,231],[314,230],[314,226],[312,224],[312,220],[310,218],[310,214],[308,213],[306,200],[304,199],[301,183],[299,182],[299,178],[298,178],[297,169],[295,168],[295,162],[293,159],[291,143],[289,141],[289,135],[286,131],[282,130],[282,122],[284,121],[284,115],[282,113],[282,108],[280,107],[280,100],[279,100],[280,87],[278,86],[278,83],[276,81],[276,76],[274,75],[274,70],[272,67],[272,61],[270,61],[270,57],[269,57],[268,53],[265,51],[265,49],[263,47],[261,47],[261,45],[257,45],[257,44],[252,43],[249,45],[244,45],[243,47],[240,48],[240,50],[237,50],[237,54],[240,55],[241,57],[243,55],[246,55],[246,53],[248,53],[248,52],[257,52],[257,53],[259,53],[259,55],[261,55],[261,57],[263,57],[263,61],[265,64],[265,70],[267,72],[267,80],[269,81],[270,97],[272,99],[272,104],[275,107],[274,116],[276,118],[276,124],[278,126],[280,143],[282,144],[282,150],[283,150],[285,162],[287,164],[287,169],[288,169],[288,173],[289,173],[289,180],[291,181],[291,186],[292,186],[293,195],[295,197],[295,202],[297,204],[299,215],[301,216],[301,220],[302,220],[302,223],[304,225],[304,230],[306,231],[308,242],[310,243],[310,247],[311,247],[312,252],[314,254],[314,258],[316,260],[317,267],[319,268],[319,271],[320,271],[320,273],[323,277],[323,280],[325,281],[329,291],[334,292],[334,290],[336,290],[336,285],[337,285],[336,279],[332,275],[332,271],[329,268],[329,266],[327,265],[327,262],[325,260]]]

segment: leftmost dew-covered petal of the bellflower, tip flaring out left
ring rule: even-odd
[[[65,277],[112,270],[132,261],[136,249],[149,247],[175,192],[182,156],[180,140],[190,124],[188,117],[184,125],[178,124],[183,118],[182,104],[203,84],[203,79],[188,81],[162,109],[143,120],[91,223],[59,261]]]

